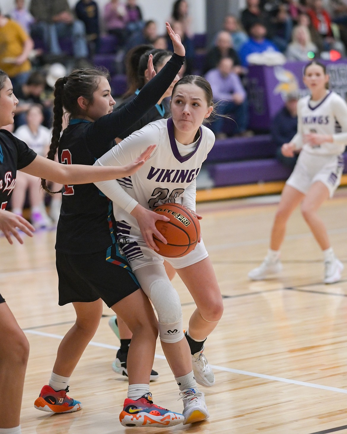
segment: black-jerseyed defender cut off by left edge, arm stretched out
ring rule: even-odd
[[[18,99],[7,74],[0,70],[0,127],[13,123]],[[49,161],[29,149],[10,132],[0,130],[0,230],[10,244],[12,236],[20,243],[18,229],[33,236],[34,227],[23,217],[6,210],[16,184],[16,171],[45,177],[57,183],[83,183],[101,179],[114,179],[122,173],[134,173],[151,154],[142,155],[137,161],[121,171],[95,171],[94,167],[64,166]],[[23,395],[26,363],[29,356],[29,342],[17,324],[3,296],[0,295],[0,394],[6,396],[6,405],[0,406],[0,430],[6,434],[20,434],[20,407]],[[65,392],[66,394],[66,392]],[[9,411],[10,409],[10,411]]]

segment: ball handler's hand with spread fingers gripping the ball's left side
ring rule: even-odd
[[[137,204],[130,214],[136,218],[142,233],[142,237],[150,249],[155,251],[159,250],[159,247],[154,242],[153,235],[155,235],[158,240],[162,241],[164,244],[167,244],[167,240],[163,237],[159,230],[157,230],[155,222],[157,220],[169,221],[169,217],[157,214],[152,210],[147,210],[140,204]]]

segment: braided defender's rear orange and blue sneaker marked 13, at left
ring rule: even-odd
[[[69,398],[66,395],[68,391],[69,386],[57,392],[50,386],[43,386],[39,398],[34,403],[34,407],[37,410],[49,411],[50,413],[72,413],[72,411],[81,410],[82,404],[75,399]]]

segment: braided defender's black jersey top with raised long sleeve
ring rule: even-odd
[[[115,138],[153,107],[173,82],[184,57],[173,54],[163,69],[121,109],[95,122],[70,121],[60,138],[59,162],[88,164],[115,145]],[[65,186],[57,227],[56,250],[63,253],[95,253],[115,242],[112,204],[94,184]]]

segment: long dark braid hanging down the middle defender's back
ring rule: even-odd
[[[62,132],[62,117],[63,117],[63,103],[62,97],[64,93],[64,85],[67,82],[66,77],[62,77],[56,81],[54,87],[54,120],[53,120],[53,130],[52,130],[52,141],[49,145],[49,151],[47,154],[47,158],[49,160],[54,161],[56,158],[57,149],[59,146],[60,133]],[[41,178],[41,186],[43,190],[47,191],[47,193],[61,193],[59,191],[50,191],[46,185],[46,179]]]

